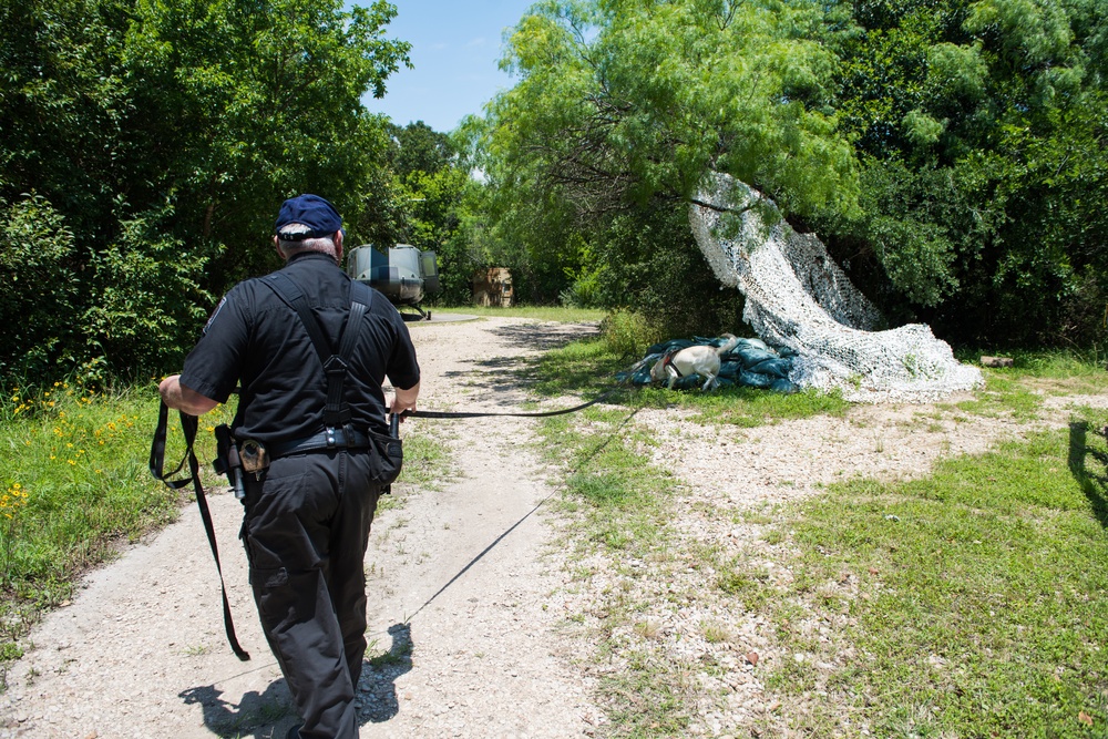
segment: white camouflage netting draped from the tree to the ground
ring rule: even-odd
[[[700,250],[746,296],[743,320],[792,355],[791,382],[864,402],[941,400],[983,383],[927,326],[875,330],[881,314],[823,244],[796,233],[757,191],[712,173],[696,201],[689,222]]]

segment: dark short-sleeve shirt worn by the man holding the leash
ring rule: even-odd
[[[316,252],[294,255],[283,271],[337,352],[350,312],[350,277]],[[377,291],[358,331],[343,398],[356,428],[383,432],[384,378],[403,389],[419,382],[416,348],[403,318]],[[322,362],[296,311],[260,279],[239,283],[223,298],[185,359],[181,383],[220,403],[240,384],[233,424],[239,439],[288,441],[324,430]]]

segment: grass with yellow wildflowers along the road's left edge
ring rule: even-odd
[[[12,389],[0,413],[0,659],[11,659],[42,609],[70,596],[75,575],[110,558],[116,542],[172,521],[178,493],[147,470],[152,389]],[[170,449],[183,450],[179,428]]]

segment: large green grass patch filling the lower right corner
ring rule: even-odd
[[[807,704],[798,728],[1105,736],[1108,444],[1083,423],[797,507],[781,524],[794,581],[768,607],[786,654],[806,657],[768,685]]]

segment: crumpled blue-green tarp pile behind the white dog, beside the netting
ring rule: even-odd
[[[627,370],[617,372],[616,380],[632,384],[650,384],[650,368],[667,353],[697,345],[721,347],[727,341],[725,338],[695,336],[691,340],[671,339],[656,343],[646,350],[646,357]],[[774,351],[761,339],[739,339],[733,349],[719,358],[719,387],[745,386],[776,392],[797,392],[800,388],[789,380],[794,356],[796,353],[789,349]],[[705,378],[697,374],[681,377],[674,382],[674,389],[699,388],[704,382]]]

